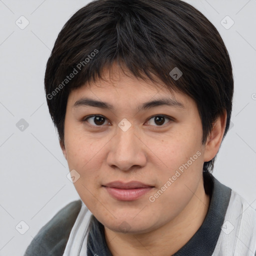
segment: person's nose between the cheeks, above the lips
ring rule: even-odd
[[[134,131],[133,126],[126,131],[117,128],[107,155],[110,167],[128,171],[145,166],[147,147],[136,133],[138,132]]]

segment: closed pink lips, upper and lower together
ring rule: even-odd
[[[103,187],[113,198],[126,201],[138,199],[153,188],[153,186],[139,181],[130,181],[128,183],[113,181],[103,185]]]

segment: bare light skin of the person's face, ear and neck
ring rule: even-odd
[[[60,146],[69,170],[80,174],[75,189],[104,225],[113,256],[169,256],[193,236],[207,214],[209,196],[203,188],[202,167],[219,149],[226,112],[202,145],[201,120],[190,97],[127,76],[116,64],[108,71],[104,69],[104,79],[70,92]],[[174,96],[185,108],[163,105],[136,110],[145,101],[166,96]],[[108,102],[114,109],[73,107],[83,97]],[[84,120],[93,114],[105,118],[102,124],[95,123],[94,117]],[[173,119],[166,117],[159,125],[152,117],[159,114]],[[123,118],[131,124],[127,131],[118,127]],[[200,156],[158,198],[149,201],[197,151]],[[121,201],[102,186],[114,180],[137,180],[154,187],[136,200]],[[126,230],[121,229],[123,221],[128,223]]]

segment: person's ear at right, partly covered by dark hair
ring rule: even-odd
[[[212,130],[205,143],[203,161],[210,161],[218,152],[226,127],[226,110],[214,122]]]

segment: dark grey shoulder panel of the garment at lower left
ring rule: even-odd
[[[75,200],[61,208],[36,234],[24,256],[62,255],[76,217],[81,200]]]

